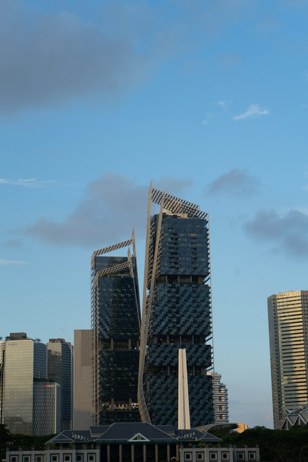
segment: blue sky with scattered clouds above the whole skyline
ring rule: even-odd
[[[308,1],[1,2],[1,325],[90,328],[151,180],[210,213],[229,418],[272,426],[267,302],[307,290]]]

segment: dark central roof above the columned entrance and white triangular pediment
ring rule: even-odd
[[[168,433],[163,432],[154,425],[145,422],[137,423],[120,423],[115,422],[110,425],[105,432],[103,432],[94,441],[96,443],[104,442],[127,442],[137,434],[142,435],[148,441],[174,441],[174,438]]]

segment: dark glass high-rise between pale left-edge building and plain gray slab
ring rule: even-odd
[[[61,386],[61,432],[72,423],[73,357],[72,345],[64,339],[49,339],[47,346],[47,379]]]

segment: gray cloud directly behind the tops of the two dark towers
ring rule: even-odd
[[[155,188],[172,194],[181,193],[189,184],[173,177],[153,181]],[[65,220],[40,218],[24,234],[59,245],[98,247],[127,239],[133,227],[137,237],[145,237],[149,187],[127,176],[106,173],[89,183],[85,199]]]

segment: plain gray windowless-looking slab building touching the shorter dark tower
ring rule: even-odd
[[[92,331],[74,330],[73,426],[87,430],[93,425],[92,408]]]

